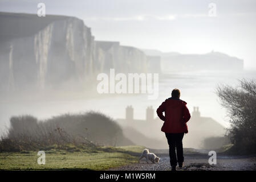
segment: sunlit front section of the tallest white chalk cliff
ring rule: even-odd
[[[49,24],[35,36],[39,88],[84,81],[92,72],[91,32],[82,20],[68,18]]]

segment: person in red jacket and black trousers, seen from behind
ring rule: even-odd
[[[180,100],[180,90],[173,89],[172,97],[162,102],[156,112],[159,118],[164,121],[161,131],[165,133],[169,144],[170,166],[172,166],[172,171],[176,171],[177,162],[179,167],[183,167],[182,139],[184,133],[188,133],[186,122],[190,119],[186,102]],[[163,112],[165,115],[162,114]]]

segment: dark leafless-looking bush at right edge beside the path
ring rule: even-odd
[[[228,130],[231,143],[239,152],[256,152],[256,81],[241,80],[240,86],[218,86],[218,97],[226,107],[231,128]]]

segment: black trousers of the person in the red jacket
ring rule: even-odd
[[[165,133],[169,144],[170,166],[184,162],[182,139],[184,133]],[[177,157],[176,157],[177,150]]]

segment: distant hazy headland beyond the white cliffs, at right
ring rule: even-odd
[[[178,52],[161,52],[143,49],[146,55],[160,56],[164,71],[241,71],[243,60],[221,52],[205,54],[182,54]]]

